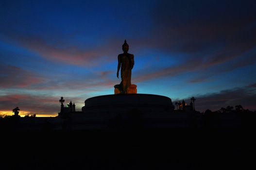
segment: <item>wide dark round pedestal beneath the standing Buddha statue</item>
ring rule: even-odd
[[[85,100],[83,112],[128,112],[138,109],[142,112],[173,110],[171,99],[152,94],[116,94],[96,96]]]

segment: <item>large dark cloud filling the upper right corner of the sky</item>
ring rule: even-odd
[[[256,45],[253,1],[160,1],[152,11],[154,39],[163,50],[176,52],[243,52]],[[235,51],[234,51],[235,50]]]

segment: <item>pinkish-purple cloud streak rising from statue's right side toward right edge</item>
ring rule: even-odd
[[[171,66],[168,68],[162,68],[155,71],[140,73],[138,71],[136,73],[135,78],[133,79],[134,82],[143,82],[155,78],[161,78],[166,76],[177,76],[184,73],[189,73],[193,71],[202,71],[199,74],[199,77],[193,78],[189,80],[190,83],[198,83],[205,81],[208,77],[212,75],[217,75],[223,72],[228,72],[234,70],[236,68],[245,67],[248,65],[252,65],[256,63],[255,56],[245,57],[242,56],[243,52],[239,52],[236,54],[213,54],[211,59],[205,60],[202,59],[192,59],[187,60],[184,63]],[[238,61],[234,61],[235,58],[238,58]],[[220,65],[225,64],[225,67],[219,67]],[[208,71],[208,69],[213,69],[214,71]]]

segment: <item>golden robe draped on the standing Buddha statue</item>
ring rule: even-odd
[[[134,67],[134,55],[129,53],[122,53],[118,55],[119,62],[121,63],[121,83],[119,90],[122,93],[128,93],[128,87],[131,85],[132,69]]]

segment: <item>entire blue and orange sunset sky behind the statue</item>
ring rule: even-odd
[[[0,114],[114,94],[124,39],[138,93],[256,110],[255,0],[1,0]]]

